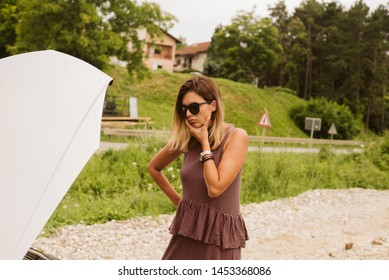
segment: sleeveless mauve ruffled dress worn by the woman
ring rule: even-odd
[[[224,144],[233,130],[231,126],[221,145],[212,151],[216,166],[223,155]],[[169,227],[173,235],[162,257],[164,260],[239,260],[248,234],[240,214],[240,181],[242,170],[217,198],[210,198],[199,161],[201,146],[190,148],[184,155],[180,176],[183,196]]]

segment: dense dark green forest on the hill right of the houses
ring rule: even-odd
[[[305,0],[288,13],[284,1],[240,12],[216,28],[206,73],[258,86],[282,86],[306,100],[324,97],[347,105],[365,129],[389,128],[389,11],[357,0]]]

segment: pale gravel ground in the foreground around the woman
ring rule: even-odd
[[[389,190],[313,190],[241,211],[250,237],[243,259],[389,260]],[[32,247],[60,259],[158,260],[172,219],[67,226]]]

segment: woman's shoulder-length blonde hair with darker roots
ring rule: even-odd
[[[224,106],[219,88],[216,83],[203,75],[195,75],[188,79],[179,89],[174,108],[172,133],[168,142],[171,151],[181,151],[186,153],[195,141],[189,134],[185,124],[185,116],[182,114],[182,99],[188,92],[195,92],[204,98],[205,101],[216,101],[216,110],[212,113],[212,126],[209,129],[209,144],[214,150],[219,147],[224,137]]]

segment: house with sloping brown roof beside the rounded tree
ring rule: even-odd
[[[174,71],[193,70],[203,72],[211,42],[197,43],[176,51]]]

